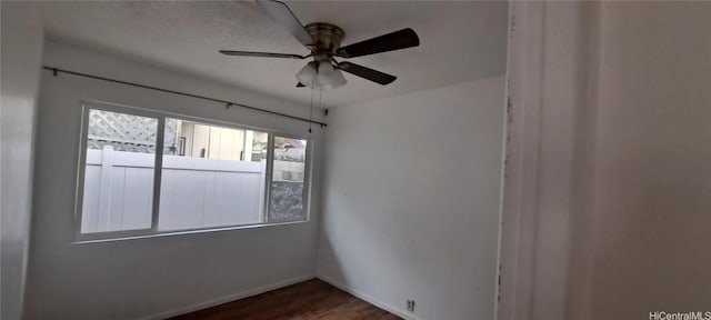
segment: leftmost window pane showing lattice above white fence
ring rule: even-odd
[[[81,233],[151,228],[158,119],[89,111]]]

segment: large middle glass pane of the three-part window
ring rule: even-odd
[[[158,229],[263,222],[267,137],[166,118]]]

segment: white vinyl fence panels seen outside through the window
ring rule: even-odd
[[[81,232],[151,227],[156,154],[87,150]],[[159,230],[263,222],[267,161],[163,156]]]

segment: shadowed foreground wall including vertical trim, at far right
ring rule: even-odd
[[[499,319],[711,310],[711,3],[512,9]]]

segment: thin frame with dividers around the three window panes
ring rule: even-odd
[[[153,162],[153,188],[152,188],[152,207],[151,207],[151,227],[144,229],[133,229],[133,230],[118,230],[118,231],[101,231],[101,232],[90,232],[90,233],[81,233],[81,221],[83,216],[83,196],[84,196],[84,179],[86,179],[86,166],[87,166],[87,144],[88,144],[88,136],[89,136],[89,112],[91,110],[101,110],[108,112],[118,112],[138,117],[147,117],[153,118],[158,120],[157,124],[157,139],[156,139],[156,152],[153,153],[156,159]],[[161,191],[161,177],[162,177],[162,161],[163,161],[163,140],[166,134],[166,119],[179,119],[186,121],[194,121],[204,124],[219,126],[222,128],[229,129],[238,129],[238,130],[254,130],[260,132],[268,133],[268,150],[267,150],[267,166],[266,166],[266,174],[264,174],[264,192],[263,194],[263,206],[262,212],[260,216],[262,217],[262,222],[256,223],[243,223],[243,224],[228,224],[228,226],[219,226],[219,227],[203,227],[203,228],[190,228],[190,229],[181,229],[181,230],[166,230],[160,231],[158,229],[158,221],[160,218],[160,191]],[[271,182],[272,182],[272,168],[273,168],[273,143],[274,137],[290,138],[290,139],[300,139],[307,141],[306,149],[306,159],[304,159],[304,178],[303,178],[303,210],[304,210],[304,219],[298,220],[288,220],[288,221],[278,221],[278,222],[269,222],[269,210],[271,202]],[[103,241],[116,241],[116,240],[128,240],[128,239],[140,239],[140,238],[153,238],[153,237],[163,237],[163,236],[174,236],[174,234],[190,234],[190,233],[202,233],[202,232],[214,232],[214,231],[226,231],[226,230],[239,230],[239,229],[252,229],[252,228],[262,228],[262,227],[272,227],[272,226],[281,226],[281,224],[293,224],[293,223],[303,223],[309,222],[311,220],[311,203],[309,194],[311,193],[311,150],[312,150],[312,140],[311,137],[308,136],[299,136],[299,134],[290,134],[278,130],[257,128],[252,126],[232,123],[227,121],[220,121],[214,119],[206,119],[200,117],[192,117],[181,113],[173,113],[167,111],[156,111],[149,110],[144,108],[130,107],[130,106],[121,106],[110,102],[103,101],[92,101],[92,100],[81,100],[81,128],[80,128],[80,141],[79,141],[79,159],[77,161],[77,184],[76,184],[76,196],[74,196],[74,212],[73,212],[73,229],[74,229],[74,241],[73,243],[86,243],[86,242],[103,242]]]

